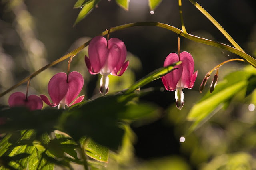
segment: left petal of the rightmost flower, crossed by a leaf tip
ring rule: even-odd
[[[164,67],[167,67],[177,61],[179,61],[178,54],[170,53],[164,61]],[[182,64],[176,65],[174,68],[178,68],[178,69],[175,69],[174,71],[165,75],[165,78],[166,78],[166,81],[167,81],[168,87],[169,87],[168,89],[170,91],[173,91],[176,89],[176,85],[182,76],[182,70],[183,70]]]

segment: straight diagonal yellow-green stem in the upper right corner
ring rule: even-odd
[[[244,52],[244,50],[235,42],[235,40],[228,34],[228,32],[226,32],[226,30],[224,30],[224,28],[202,6],[200,6],[194,0],[189,1],[194,4],[194,6],[196,6],[196,8],[200,10],[212,22],[212,24],[214,24],[220,30],[220,32],[222,32],[222,34],[228,39],[230,43],[232,43],[232,45],[234,45],[234,47],[236,47],[236,49]]]

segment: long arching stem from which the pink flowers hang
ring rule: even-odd
[[[135,27],[135,26],[157,26],[157,27],[161,27],[161,28],[171,30],[172,32],[175,32],[176,34],[180,34],[180,32],[181,32],[180,36],[188,38],[189,40],[192,40],[194,42],[199,42],[199,43],[203,43],[203,44],[206,44],[206,45],[211,45],[211,46],[214,46],[214,47],[222,48],[222,49],[230,51],[234,54],[237,54],[240,57],[244,58],[248,63],[250,63],[250,65],[252,65],[253,67],[256,68],[256,59],[254,59],[253,57],[251,57],[250,55],[246,54],[243,51],[240,51],[240,50],[238,50],[234,47],[231,47],[231,46],[223,44],[223,43],[214,42],[212,40],[208,40],[208,39],[205,39],[205,38],[200,38],[200,37],[197,37],[197,36],[194,36],[194,35],[191,35],[191,34],[184,34],[184,32],[182,32],[182,30],[180,30],[180,29],[178,29],[174,26],[170,26],[168,24],[163,24],[163,23],[160,23],[160,22],[136,22],[136,23],[124,24],[124,25],[120,25],[120,26],[116,26],[116,27],[111,28],[110,33],[115,32],[117,30],[123,30],[125,28],[130,28],[130,27]],[[102,32],[99,36],[105,36],[107,34],[108,34],[108,30]],[[53,61],[52,63],[50,63],[50,64],[48,64],[44,67],[42,67],[41,69],[34,72],[30,76],[21,80],[16,85],[10,87],[9,89],[7,89],[3,93],[1,93],[0,97],[5,95],[6,93],[12,91],[16,87],[22,85],[23,83],[26,83],[29,79],[31,79],[32,77],[35,77],[36,75],[38,75],[39,73],[41,73],[45,69],[47,69],[49,67],[52,67],[53,65],[56,65],[57,63],[60,63],[61,61],[67,59],[68,57],[70,57],[72,55],[76,55],[78,52],[80,52],[82,49],[84,49],[89,43],[90,43],[90,40],[88,42],[84,43],[83,45],[81,45],[80,47],[78,47],[77,49],[75,49],[74,51],[71,51],[70,53],[64,55],[63,57]]]

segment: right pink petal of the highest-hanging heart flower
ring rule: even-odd
[[[118,38],[111,38],[108,40],[108,49],[108,69],[110,72],[112,72],[114,69],[115,72],[118,72],[126,59],[126,46],[124,45],[124,42]]]

